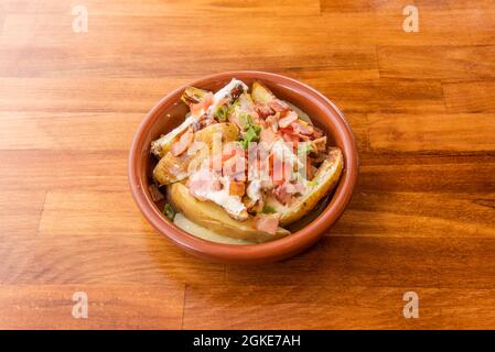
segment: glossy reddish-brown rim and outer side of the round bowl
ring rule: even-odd
[[[268,243],[248,245],[223,244],[189,234],[163,218],[153,201],[149,198],[146,191],[146,180],[142,177],[144,175],[143,167],[146,166],[146,157],[149,157],[149,148],[148,145],[144,145],[144,142],[150,127],[174,102],[179,101],[180,95],[187,86],[201,87],[212,80],[229,80],[232,77],[276,81],[278,85],[284,86],[284,88],[297,90],[299,95],[304,96],[304,99],[311,99],[322,111],[327,112],[325,116],[338,117],[338,121],[336,121],[336,134],[340,134],[343,140],[343,145],[341,146],[344,153],[345,173],[341,177],[332,200],[323,212],[310,224],[286,238]],[[139,125],[130,148],[128,165],[128,177],[132,196],[144,217],[159,232],[196,256],[215,262],[238,264],[266,263],[287,258],[314,244],[324,234],[325,230],[344,212],[345,207],[351,200],[357,180],[357,174],[358,154],[356,143],[352,130],[341,110],[325,96],[298,80],[277,74],[255,70],[225,72],[206,76],[166,95],[150,110]]]

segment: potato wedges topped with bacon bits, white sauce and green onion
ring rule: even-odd
[[[262,81],[189,87],[181,100],[184,121],[151,142],[150,194],[175,226],[214,242],[262,243],[329,201],[342,151]]]

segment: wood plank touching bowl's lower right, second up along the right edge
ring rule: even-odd
[[[326,237],[286,262],[227,265],[226,280],[239,286],[492,288],[494,249],[493,234],[476,241],[454,233],[449,239]]]

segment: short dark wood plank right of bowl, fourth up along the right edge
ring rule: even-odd
[[[495,191],[493,153],[366,153],[359,173],[358,189],[364,193]]]

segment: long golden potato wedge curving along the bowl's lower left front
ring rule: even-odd
[[[194,198],[187,187],[181,183],[169,185],[168,193],[170,201],[177,211],[182,212],[191,221],[219,235],[261,243],[290,233],[282,228],[279,228],[275,235],[260,232],[255,229],[252,218],[243,222],[236,221],[222,207],[211,201],[201,201]]]

